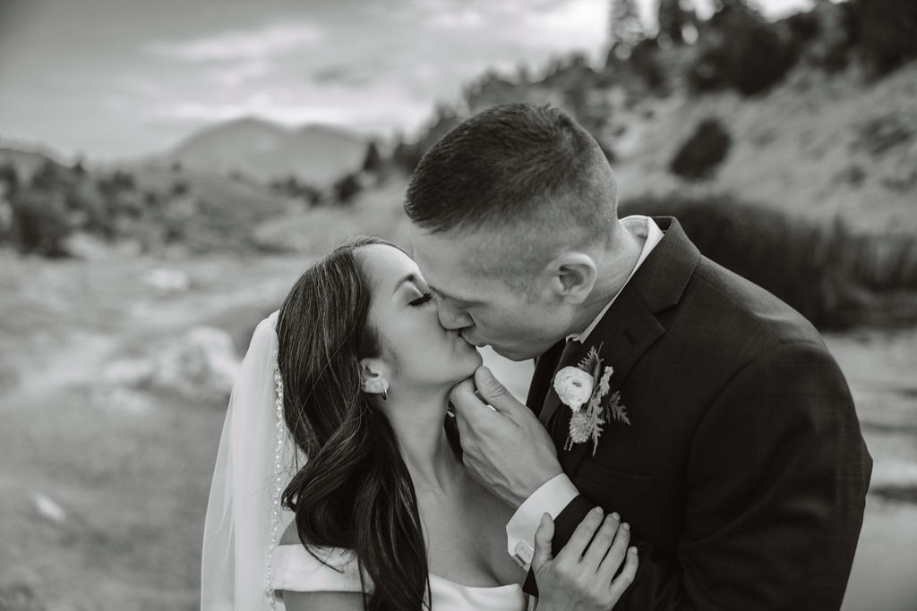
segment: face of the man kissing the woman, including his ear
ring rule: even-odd
[[[533,274],[525,289],[514,289],[470,265],[487,256],[480,242],[417,227],[411,238],[414,260],[436,295],[439,322],[459,330],[466,342],[523,361],[566,336],[569,312],[550,290],[549,278]]]

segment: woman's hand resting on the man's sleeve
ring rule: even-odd
[[[621,524],[615,513],[602,519],[602,508],[595,507],[557,558],[551,556],[553,537],[554,521],[546,513],[535,533],[532,558],[538,584],[537,611],[611,609],[636,573],[636,548],[627,549],[630,527]],[[622,562],[624,568],[615,577]]]

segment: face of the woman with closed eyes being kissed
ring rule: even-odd
[[[414,259],[389,245],[361,246],[357,256],[372,287],[370,324],[379,333],[392,389],[450,386],[474,374],[481,355],[439,323]]]

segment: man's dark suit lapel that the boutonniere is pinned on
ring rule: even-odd
[[[700,251],[684,235],[678,221],[671,217],[658,217],[654,220],[666,231],[666,235],[624,286],[624,290],[582,347],[582,355],[586,355],[591,346],[602,344],[600,356],[603,365],[614,368],[612,391],[624,387],[636,362],[666,332],[656,314],[679,302],[691,274],[701,260]],[[551,396],[557,399],[556,393],[549,392],[548,398]],[[639,406],[634,406],[634,409],[639,409]],[[549,429],[558,444],[558,459],[567,474],[576,471],[587,451],[591,453],[592,448],[591,442],[585,442],[574,444],[569,451],[563,450],[570,415],[569,409],[558,409],[553,426]],[[626,425],[607,422],[604,426]]]

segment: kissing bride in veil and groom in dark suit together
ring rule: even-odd
[[[872,470],[844,376],[617,201],[568,115],[498,106],[414,170],[413,252],[309,267],[233,388],[204,611],[838,609]],[[483,345],[536,359],[525,405]]]

